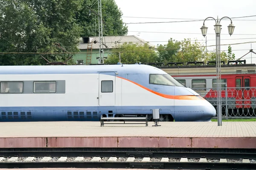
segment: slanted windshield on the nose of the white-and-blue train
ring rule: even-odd
[[[159,85],[166,85],[166,86],[181,86],[177,80],[175,80],[169,74],[150,74],[149,75],[149,83],[150,84],[159,84]]]

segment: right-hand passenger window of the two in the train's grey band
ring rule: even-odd
[[[55,81],[38,81],[34,82],[34,93],[55,93],[56,82]]]

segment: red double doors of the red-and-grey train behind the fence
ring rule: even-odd
[[[250,108],[251,107],[251,89],[249,76],[236,77],[236,107]],[[249,88],[248,88],[249,87]]]

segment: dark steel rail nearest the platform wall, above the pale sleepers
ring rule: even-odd
[[[0,157],[150,157],[256,160],[256,149],[229,148],[0,148]]]

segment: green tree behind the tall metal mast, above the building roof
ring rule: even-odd
[[[76,21],[83,30],[81,37],[99,36],[98,3],[95,0],[83,0],[83,8],[76,13]],[[89,15],[90,14],[90,15]],[[122,22],[122,12],[114,0],[102,0],[102,23],[104,36],[127,35],[128,27]]]

